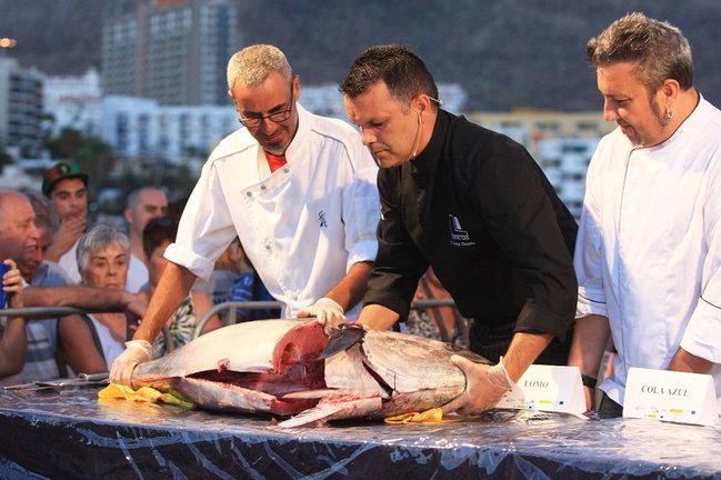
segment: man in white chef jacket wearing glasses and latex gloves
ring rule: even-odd
[[[284,54],[258,44],[228,64],[228,93],[244,126],[223,139],[183,210],[170,263],[111,379],[130,386],[150,343],[197,277],[208,279],[236,236],[286,317],[354,318],[375,258],[378,168],[349,123],[297,101]]]

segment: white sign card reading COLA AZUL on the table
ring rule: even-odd
[[[719,413],[713,378],[632,367],[625,380],[623,417],[714,424]]]

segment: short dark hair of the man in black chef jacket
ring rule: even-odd
[[[438,98],[438,87],[423,60],[399,44],[374,46],[361,53],[339,90],[353,99],[378,81],[383,81],[401,103],[410,104],[419,94]]]

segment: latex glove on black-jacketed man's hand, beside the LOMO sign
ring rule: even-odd
[[[451,357],[451,361],[465,374],[465,390],[443,406],[444,413],[459,411],[468,416],[492,409],[503,393],[515,386],[503,366],[503,357],[492,367],[475,363],[460,356]]]

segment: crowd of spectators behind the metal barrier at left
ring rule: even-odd
[[[44,172],[39,191],[0,191],[0,261],[9,268],[2,280],[8,300],[0,308],[50,312],[0,317],[0,384],[108,372],[154,291],[162,253],[178,229],[164,190],[132,191],[122,230],[90,224],[90,181],[80,166],[63,161]],[[248,272],[249,267],[233,269],[224,286],[230,290]],[[204,288],[193,289],[156,340],[156,357],[192,340],[197,321],[212,306]],[[54,314],[53,307],[82,312]],[[212,316],[203,333],[222,326]]]

